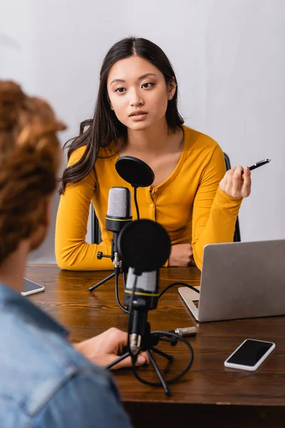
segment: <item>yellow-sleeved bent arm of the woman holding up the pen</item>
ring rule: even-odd
[[[205,245],[229,243],[234,238],[242,198],[233,198],[219,188],[224,173],[224,153],[217,145],[202,175],[193,205],[192,249],[200,270]]]

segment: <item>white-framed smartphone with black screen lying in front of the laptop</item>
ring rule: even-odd
[[[227,362],[231,364],[254,367],[257,362],[272,347],[271,342],[261,342],[261,340],[247,339],[236,352],[229,357]]]

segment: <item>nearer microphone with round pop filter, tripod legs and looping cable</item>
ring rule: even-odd
[[[170,250],[171,242],[167,231],[155,221],[147,219],[135,220],[120,230],[118,252],[123,263],[127,263],[129,266],[124,294],[125,305],[129,309],[128,345],[125,350],[122,350],[123,355],[105,367],[110,369],[130,356],[135,377],[144,384],[155,387],[162,386],[167,395],[170,394],[168,384],[176,382],[184,376],[190,370],[193,361],[192,347],[187,340],[172,332],[162,330],[151,332],[150,323],[147,322],[148,311],[157,307],[157,301],[160,297],[159,270],[169,258]],[[165,380],[154,355],[160,355],[170,364],[174,358],[172,355],[157,348],[156,345],[159,342],[170,342],[172,346],[175,346],[177,340],[184,342],[187,346],[190,351],[190,361],[180,374]],[[159,382],[150,382],[140,377],[135,367],[135,362],[141,351],[147,352]]]

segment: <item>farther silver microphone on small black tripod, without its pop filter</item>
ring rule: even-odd
[[[131,214],[131,203],[130,203],[130,190],[125,187],[113,187],[109,190],[108,195],[108,208],[105,217],[105,226],[107,230],[113,232],[111,255],[103,254],[102,251],[98,251],[97,258],[101,260],[103,257],[110,258],[114,264],[114,272],[105,277],[103,280],[95,285],[88,288],[89,291],[93,291],[100,285],[104,284],[115,276],[115,293],[118,305],[124,312],[126,311],[121,305],[118,299],[118,275],[122,270],[122,261],[120,259],[120,253],[118,251],[118,233],[122,230],[125,225],[132,222],[133,217]],[[125,272],[123,272],[125,282]]]

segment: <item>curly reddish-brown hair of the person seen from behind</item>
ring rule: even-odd
[[[0,81],[0,265],[46,218],[65,128],[46,101]]]

